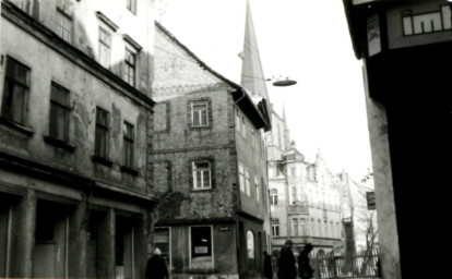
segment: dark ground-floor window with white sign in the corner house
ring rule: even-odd
[[[212,268],[212,228],[211,227],[191,227],[191,268]]]

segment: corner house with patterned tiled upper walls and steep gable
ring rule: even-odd
[[[270,231],[265,100],[255,104],[156,23],[154,245],[173,277],[259,277]]]

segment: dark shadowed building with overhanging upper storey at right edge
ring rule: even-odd
[[[450,244],[442,240],[450,233],[437,228],[449,218],[450,196],[431,186],[451,184],[442,174],[452,167],[445,159],[452,154],[451,2],[343,3],[362,61],[382,277],[445,277]],[[419,166],[431,175],[418,175]],[[436,256],[419,257],[413,240],[427,243]]]

